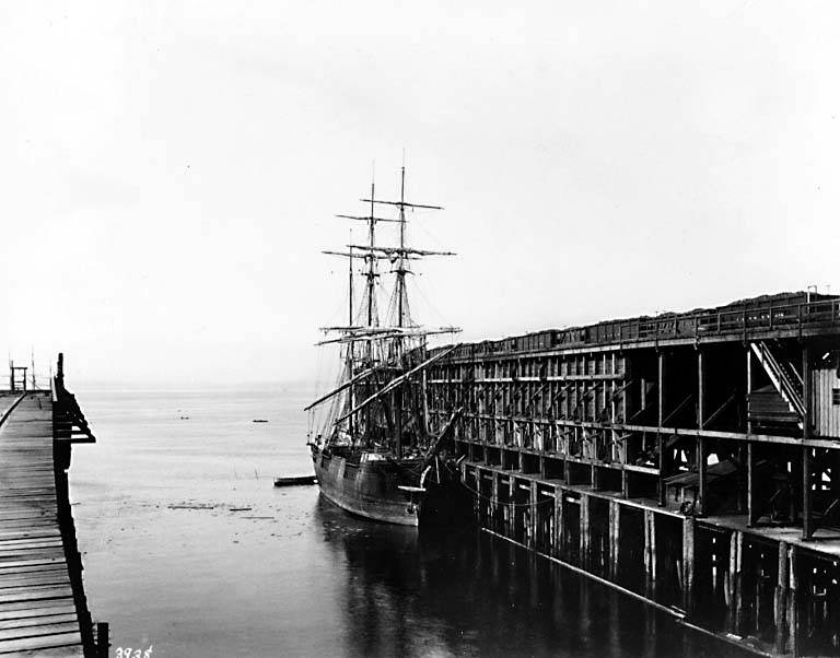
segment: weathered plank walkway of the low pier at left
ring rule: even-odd
[[[90,614],[72,522],[67,550],[62,537],[50,393],[2,393],[0,414],[0,655],[84,656]]]

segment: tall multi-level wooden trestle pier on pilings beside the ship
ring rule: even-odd
[[[756,651],[840,655],[840,298],[460,346],[428,373],[481,526]]]

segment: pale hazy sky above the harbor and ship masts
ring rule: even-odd
[[[71,383],[310,378],[339,212],[467,339],[835,284],[836,2],[4,2],[0,349]],[[357,234],[361,232],[357,226]],[[325,359],[320,357],[322,361]]]

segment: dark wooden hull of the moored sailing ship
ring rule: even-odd
[[[353,463],[337,451],[313,446],[312,461],[320,493],[342,509],[377,521],[419,525],[422,492],[399,487],[418,487],[420,460]]]

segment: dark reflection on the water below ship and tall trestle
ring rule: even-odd
[[[315,516],[346,566],[339,608],[349,655],[743,655],[474,528],[376,524],[324,498]]]

